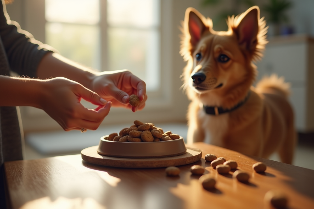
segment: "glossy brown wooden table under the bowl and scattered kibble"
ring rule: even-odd
[[[249,157],[237,152],[195,143],[203,151],[196,163],[179,166],[179,177],[168,177],[165,168],[122,169],[89,164],[80,155],[12,161],[4,164],[10,208],[117,208],[117,209],[201,209],[270,208],[263,199],[267,191],[278,189],[289,198],[289,209],[314,208],[314,170],[276,161]],[[216,154],[238,162],[251,174],[249,183],[232,179],[232,172],[220,175],[205,154]],[[265,173],[252,171],[262,161]],[[216,189],[204,190],[198,175],[189,171],[203,165],[205,173],[216,177]]]

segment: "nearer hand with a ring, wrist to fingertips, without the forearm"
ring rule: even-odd
[[[96,130],[108,115],[111,102],[81,84],[57,77],[44,80],[40,108],[57,121],[65,131],[86,128]],[[95,109],[85,108],[81,98],[98,105]]]

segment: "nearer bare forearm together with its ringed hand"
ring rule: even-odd
[[[81,98],[99,107],[87,109]],[[0,106],[32,106],[44,110],[66,130],[96,130],[111,102],[81,84],[65,79],[48,80],[0,76]]]

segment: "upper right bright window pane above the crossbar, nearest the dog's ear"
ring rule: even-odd
[[[159,25],[159,0],[107,0],[111,26],[154,27]]]

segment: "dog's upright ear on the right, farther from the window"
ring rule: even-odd
[[[238,35],[238,41],[246,50],[254,50],[257,44],[259,8],[251,7],[237,20],[240,23],[234,29]]]

